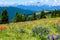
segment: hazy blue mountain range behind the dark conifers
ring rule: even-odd
[[[0,13],[2,12],[2,9],[6,9],[8,12],[9,19],[12,20],[16,11],[18,11],[20,14],[26,14],[26,15],[31,15],[33,12],[40,12],[41,10],[60,10],[60,6],[48,6],[48,5],[43,5],[43,6],[34,6],[34,5],[18,5],[18,6],[3,6],[0,7]]]

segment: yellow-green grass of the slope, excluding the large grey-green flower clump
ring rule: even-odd
[[[48,28],[47,36],[60,34],[60,18],[40,19],[26,22],[0,24],[0,40],[40,40],[38,36],[32,36],[34,27]],[[46,36],[46,37],[47,37]]]

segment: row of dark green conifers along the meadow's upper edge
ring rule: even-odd
[[[54,18],[54,17],[60,17],[60,10],[52,10],[52,11],[44,11],[42,10],[39,14],[36,12],[33,12],[32,15],[26,16],[26,14],[20,14],[18,11],[15,13],[13,22],[24,22],[24,21],[32,21],[32,20],[38,20],[42,18]],[[0,16],[0,24],[6,24],[9,23],[9,17],[6,9],[2,10],[1,16]]]

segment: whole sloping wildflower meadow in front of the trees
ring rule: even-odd
[[[60,18],[0,24],[0,40],[60,40],[58,35]]]

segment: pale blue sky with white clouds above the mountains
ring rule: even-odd
[[[60,0],[0,0],[0,6],[12,6],[12,5],[60,6]]]

